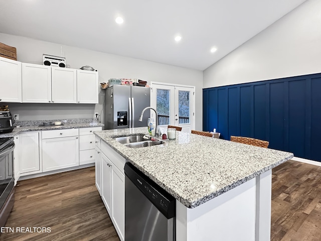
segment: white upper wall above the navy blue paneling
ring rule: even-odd
[[[300,5],[207,68],[203,88],[321,72],[320,9],[320,0]]]

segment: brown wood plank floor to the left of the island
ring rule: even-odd
[[[18,184],[6,223],[14,232],[1,233],[1,241],[119,240],[96,189],[94,167]],[[51,232],[16,232],[16,227],[50,227]]]

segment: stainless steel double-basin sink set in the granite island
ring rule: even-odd
[[[143,136],[144,135],[117,137],[115,140],[129,148],[151,147],[164,144],[162,141],[151,141],[150,138],[146,140]]]

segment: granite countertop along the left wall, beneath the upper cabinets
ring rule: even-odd
[[[0,134],[0,138],[2,137],[14,137],[22,132],[34,132],[34,131],[49,131],[49,130],[61,130],[61,129],[73,129],[73,128],[86,128],[86,127],[103,127],[104,125],[98,122],[91,123],[64,123],[60,126],[22,126],[15,127],[11,133]]]

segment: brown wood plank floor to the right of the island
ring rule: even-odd
[[[272,241],[321,240],[321,167],[289,160],[272,169]]]

